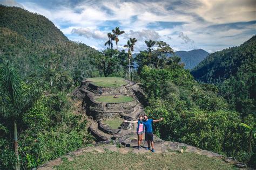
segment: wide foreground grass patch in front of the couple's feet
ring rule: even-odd
[[[196,153],[84,153],[65,160],[57,169],[235,169],[216,158],[208,158]]]

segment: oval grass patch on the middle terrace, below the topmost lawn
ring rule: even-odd
[[[124,103],[124,102],[134,101],[134,98],[130,96],[117,95],[117,97],[118,98],[114,98],[114,95],[101,96],[96,98],[95,100],[97,102],[103,102],[103,103]]]

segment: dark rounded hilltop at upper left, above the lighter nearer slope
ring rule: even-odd
[[[49,19],[21,8],[0,5],[0,27],[15,31],[33,42],[56,44],[68,41]]]

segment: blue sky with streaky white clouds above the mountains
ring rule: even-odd
[[[174,51],[220,51],[256,34],[256,0],[0,0],[50,19],[66,37],[102,51],[115,27],[122,49],[129,38],[145,50],[145,40],[163,40]],[[115,45],[115,44],[114,44]]]

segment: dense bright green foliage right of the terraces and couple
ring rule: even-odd
[[[148,98],[146,112],[153,119],[164,117],[154,124],[158,136],[250,160],[251,133],[241,128],[240,115],[228,110],[213,85],[194,81],[177,62],[164,69],[144,66],[140,79]]]

